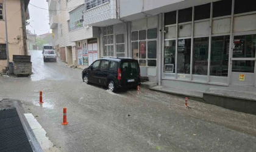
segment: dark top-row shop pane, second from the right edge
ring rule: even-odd
[[[213,18],[231,15],[232,0],[213,2]]]

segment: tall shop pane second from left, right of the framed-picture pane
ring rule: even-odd
[[[190,74],[191,38],[178,40],[177,73]]]

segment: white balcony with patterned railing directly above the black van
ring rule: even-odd
[[[104,27],[121,22],[116,15],[116,0],[87,0],[85,7],[86,26]]]

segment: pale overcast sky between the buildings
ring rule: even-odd
[[[33,4],[37,7],[41,7],[43,9],[48,9],[48,2],[46,0],[30,0],[30,4]],[[49,26],[49,12],[48,10],[39,9],[29,4],[29,15],[30,22],[29,30],[30,32],[35,33],[37,35],[41,35],[47,32],[51,33],[51,29]],[[31,27],[32,26],[32,27]]]

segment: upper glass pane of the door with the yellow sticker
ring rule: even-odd
[[[233,58],[255,58],[256,35],[234,36]]]

